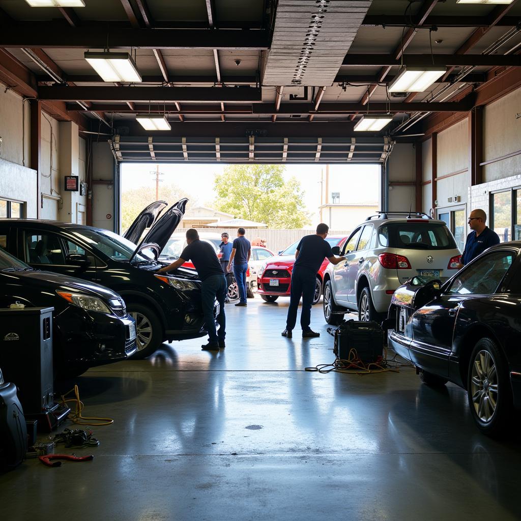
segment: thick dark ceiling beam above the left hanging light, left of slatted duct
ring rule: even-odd
[[[107,32],[97,27],[80,28],[60,26],[52,30],[52,23],[40,22],[11,24],[0,31],[0,47],[41,48],[97,48],[107,46]],[[267,30],[244,29],[241,31],[216,29],[126,29],[112,28],[108,44],[111,49],[245,49],[269,48],[270,33]]]

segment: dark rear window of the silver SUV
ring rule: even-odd
[[[445,225],[430,222],[392,222],[380,227],[382,246],[404,250],[451,250],[456,242]]]

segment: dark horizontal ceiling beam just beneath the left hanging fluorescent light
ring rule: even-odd
[[[260,102],[261,89],[204,87],[70,87],[41,86],[41,100],[61,101],[134,101],[134,102]]]

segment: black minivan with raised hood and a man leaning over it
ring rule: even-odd
[[[133,358],[145,358],[164,341],[206,334],[197,272],[180,268],[173,275],[155,275],[165,266],[157,257],[187,202],[178,201],[159,218],[165,203],[148,205],[126,234],[138,242],[152,225],[138,245],[101,228],[31,219],[0,219],[0,241],[33,268],[97,282],[119,293],[136,321],[138,352]]]

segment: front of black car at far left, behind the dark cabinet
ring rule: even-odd
[[[117,293],[92,282],[34,270],[0,247],[0,307],[16,302],[54,307],[54,367],[60,377],[118,362],[137,350],[134,319]]]

